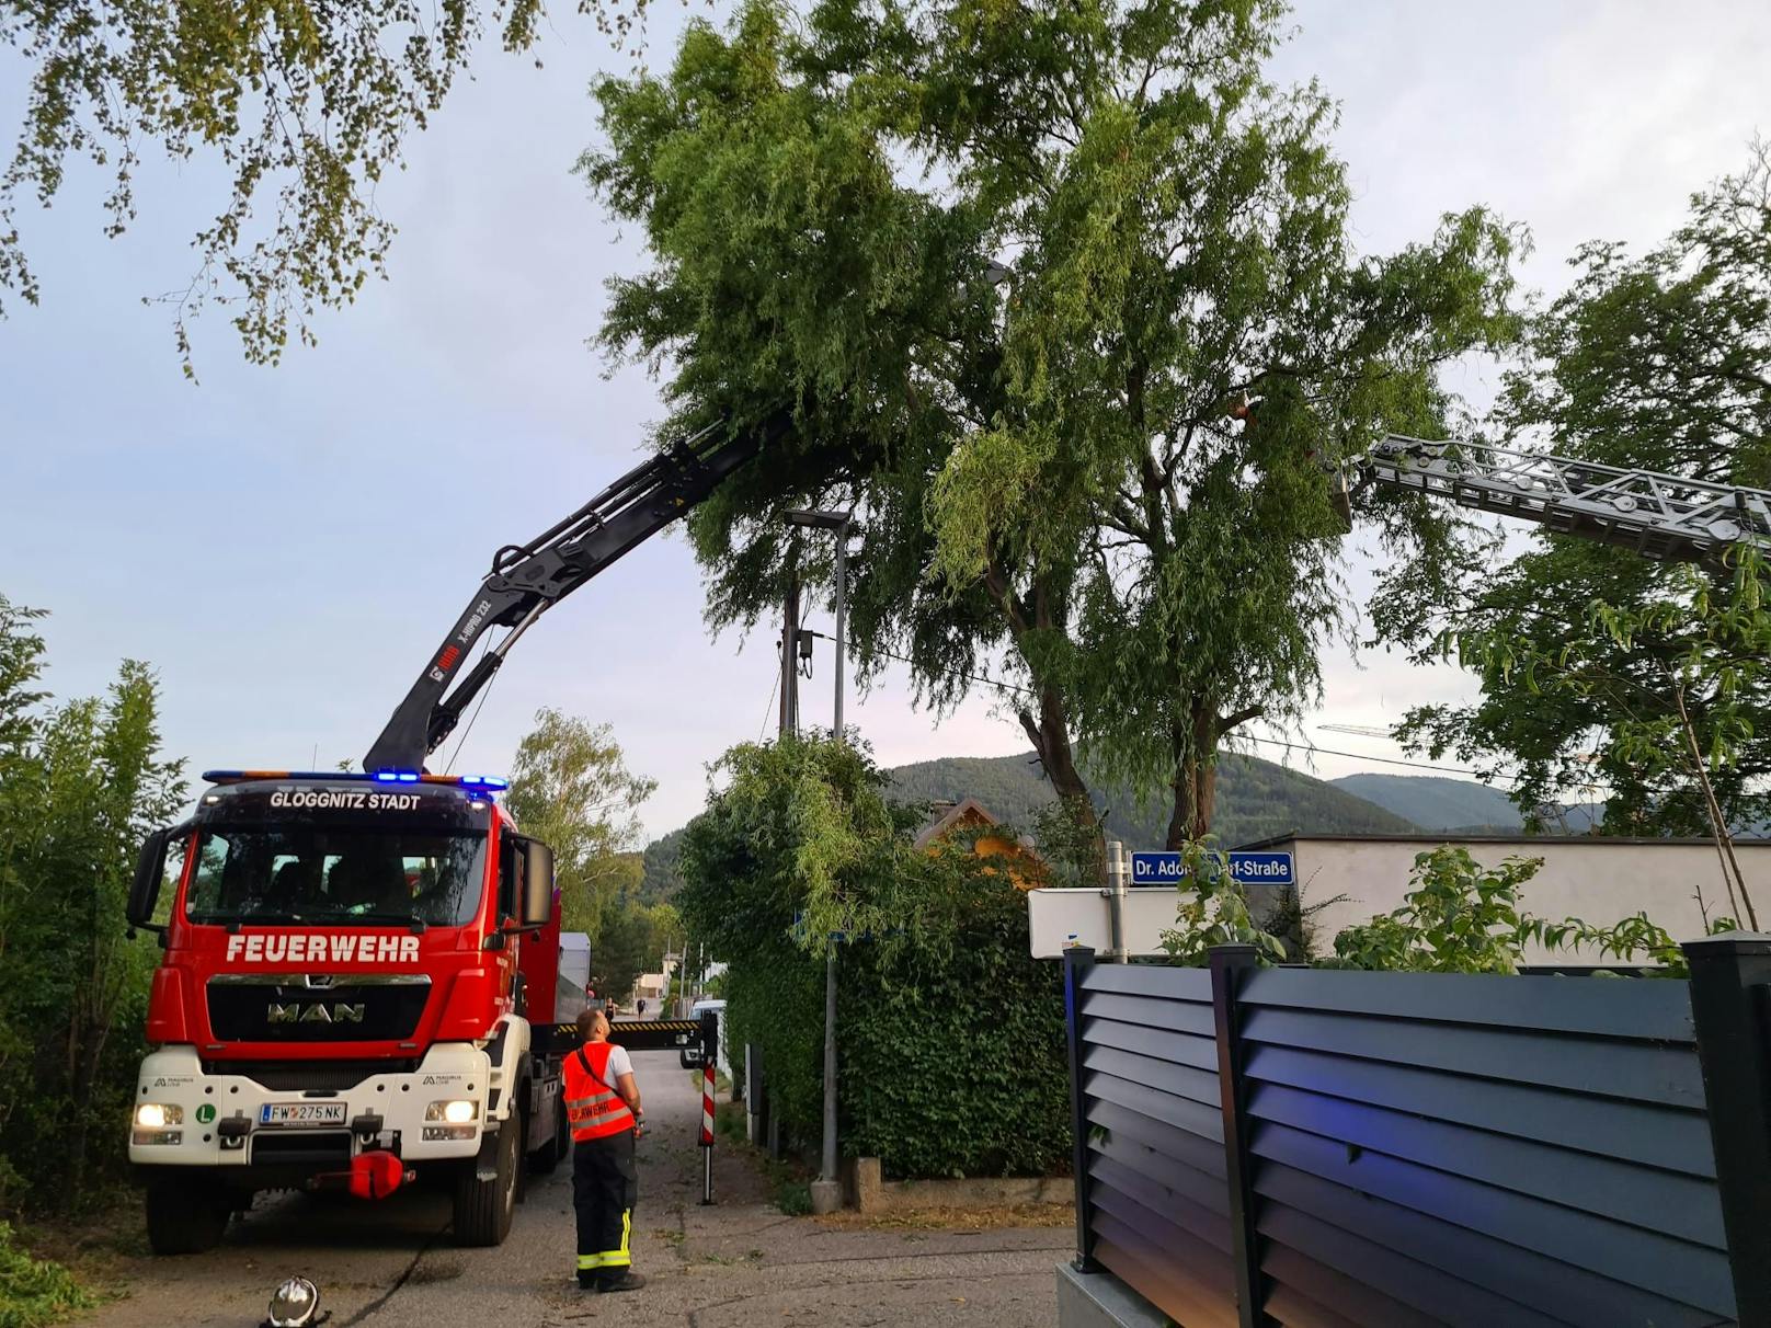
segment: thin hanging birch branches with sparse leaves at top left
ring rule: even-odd
[[[577,9],[627,34],[645,0]],[[30,85],[0,174],[0,294],[37,303],[18,200],[35,195],[48,207],[69,158],[112,172],[112,237],[135,221],[149,145],[174,161],[214,158],[232,174],[230,193],[193,239],[189,285],[163,297],[184,372],[186,319],[207,301],[237,310],[250,361],[276,363],[290,331],[313,342],[317,308],[347,305],[368,276],[386,274],[395,227],[375,186],[402,166],[407,135],[443,106],[483,32],[526,51],[542,18],[542,0],[455,0],[429,14],[407,0],[0,0],[0,44],[28,67]]]

